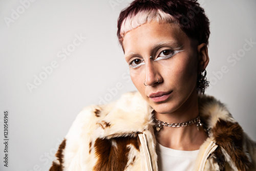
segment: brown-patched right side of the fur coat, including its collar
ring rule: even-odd
[[[228,163],[233,169],[255,169],[256,144],[232,117],[226,105],[215,97],[199,96],[199,113],[209,129],[209,139],[218,145],[209,161],[212,159],[211,163],[218,163],[220,168]]]

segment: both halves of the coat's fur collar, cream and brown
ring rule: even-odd
[[[226,106],[211,96],[199,96],[199,114],[204,125],[214,136],[212,129],[220,120],[237,123],[226,109]],[[136,132],[147,130],[153,126],[153,109],[142,98],[139,92],[125,93],[116,102],[97,106],[94,111],[101,129],[104,130],[100,137],[112,138],[127,136]]]

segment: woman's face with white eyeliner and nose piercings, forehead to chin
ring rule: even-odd
[[[143,24],[125,34],[123,49],[135,87],[156,112],[182,110],[197,96],[198,46],[178,26]]]

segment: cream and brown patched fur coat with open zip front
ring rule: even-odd
[[[256,144],[225,105],[199,96],[201,121],[210,128],[195,170],[256,170]],[[50,171],[157,171],[153,109],[138,92],[81,111],[59,145]]]

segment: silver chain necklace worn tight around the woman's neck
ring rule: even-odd
[[[184,127],[184,126],[189,126],[191,124],[197,123],[197,129],[199,130],[199,126],[203,126],[203,123],[200,120],[200,116],[196,117],[195,119],[192,119],[190,121],[187,122],[182,122],[182,123],[167,123],[167,122],[163,122],[160,120],[157,120],[156,118],[154,118],[154,121],[156,123],[156,130],[160,131],[162,126],[169,126],[169,127]]]

